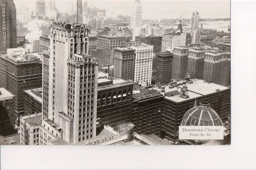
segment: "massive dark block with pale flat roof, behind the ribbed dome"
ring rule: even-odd
[[[184,86],[188,90],[187,94],[181,90],[184,89]],[[161,117],[161,138],[178,144],[179,126],[182,118],[188,109],[195,105],[195,101],[196,103],[201,101],[210,103],[211,108],[218,113],[221,121],[228,121],[228,116],[230,116],[230,88],[199,79],[173,82],[164,88],[164,92],[159,88],[152,88],[165,96]]]

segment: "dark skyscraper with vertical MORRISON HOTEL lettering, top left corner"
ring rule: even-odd
[[[17,47],[16,7],[13,0],[0,1],[0,52]]]

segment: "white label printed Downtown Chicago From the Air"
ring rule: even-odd
[[[179,126],[179,139],[223,140],[223,126]]]

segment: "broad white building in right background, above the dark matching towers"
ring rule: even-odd
[[[186,33],[166,33],[162,38],[162,51],[173,52],[173,48],[186,45]]]

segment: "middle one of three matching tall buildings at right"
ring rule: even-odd
[[[187,73],[191,78],[203,79],[204,58],[207,51],[209,50],[198,47],[188,50]]]

